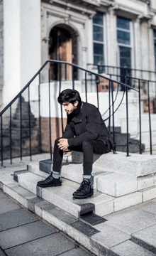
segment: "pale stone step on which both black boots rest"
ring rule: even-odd
[[[44,200],[55,204],[55,206],[65,210],[67,213],[70,213],[77,218],[82,212],[82,204],[84,205],[84,203],[92,203],[94,205],[94,213],[97,215],[103,216],[113,213],[112,196],[94,191],[94,197],[87,198],[85,200],[76,200],[72,197],[72,194],[77,190],[77,188],[79,188],[78,183],[63,178],[62,186],[40,188],[37,186],[37,183],[44,178],[30,173],[29,171],[21,174],[20,172],[16,172],[15,175],[19,186],[27,189]]]

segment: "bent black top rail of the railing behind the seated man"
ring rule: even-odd
[[[26,88],[30,85],[30,83],[33,82],[33,80],[37,77],[37,75],[43,70],[43,68],[45,68],[45,65],[47,65],[47,63],[49,63],[49,62],[50,63],[60,63],[60,64],[71,65],[74,68],[79,68],[79,70],[83,70],[85,72],[91,73],[92,75],[97,75],[97,76],[99,76],[101,78],[105,78],[107,80],[111,80],[112,82],[117,82],[118,84],[123,85],[124,87],[128,87],[128,88],[138,92],[138,90],[136,90],[135,88],[130,87],[130,85],[126,85],[123,82],[118,82],[118,81],[113,80],[111,78],[106,78],[104,75],[101,75],[101,74],[98,74],[98,73],[94,73],[94,72],[92,72],[90,70],[87,70],[85,68],[80,67],[79,65],[76,65],[76,64],[73,64],[73,63],[68,63],[68,62],[61,61],[61,60],[46,60],[45,63],[42,65],[42,67],[38,70],[37,73],[35,73],[33,78],[30,79],[30,81],[25,85],[25,87],[23,87],[23,89],[18,93],[18,95],[16,95],[16,97],[14,97],[13,100],[11,100],[11,102],[9,102],[9,104],[6,105],[6,107],[4,107],[4,110],[2,110],[0,112],[0,116],[2,114],[4,114],[4,112],[6,112],[6,110],[13,104],[13,102],[15,102],[18,99],[18,97],[26,90]]]

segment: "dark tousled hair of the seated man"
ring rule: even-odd
[[[79,104],[82,103],[82,99],[77,90],[66,89],[60,92],[59,97],[57,97],[57,101],[62,105],[63,102],[69,102],[74,104],[74,102],[78,101]]]

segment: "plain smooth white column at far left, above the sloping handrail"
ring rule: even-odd
[[[40,54],[40,1],[4,0],[3,107],[37,73]]]

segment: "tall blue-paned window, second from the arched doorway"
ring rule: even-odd
[[[130,20],[117,17],[117,42],[120,55],[121,82],[131,75]]]

